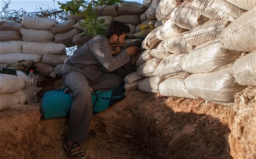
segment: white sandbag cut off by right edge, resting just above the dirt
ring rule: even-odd
[[[256,86],[256,50],[235,61],[233,74],[240,85]]]

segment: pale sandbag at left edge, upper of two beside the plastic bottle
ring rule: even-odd
[[[15,93],[25,85],[22,76],[0,74],[0,94]]]

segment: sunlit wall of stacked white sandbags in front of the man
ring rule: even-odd
[[[239,91],[256,86],[255,3],[151,2],[151,17],[163,24],[142,43],[137,71],[125,77],[126,90],[232,104]]]

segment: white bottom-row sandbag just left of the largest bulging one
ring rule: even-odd
[[[197,99],[193,94],[188,93],[184,79],[186,76],[172,76],[159,84],[161,96],[178,96],[180,98]]]

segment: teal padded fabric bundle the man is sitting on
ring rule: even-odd
[[[72,105],[72,98],[65,89],[51,90],[43,94],[40,112],[42,119],[68,117]],[[110,91],[96,91],[91,93],[93,114],[106,110],[111,105],[125,98],[122,88]]]

